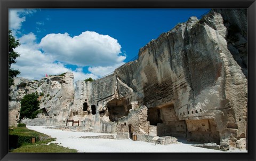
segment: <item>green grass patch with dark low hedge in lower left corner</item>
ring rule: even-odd
[[[36,142],[31,143],[31,138],[36,138]],[[58,144],[47,144],[52,141],[55,141],[55,138],[27,127],[9,128],[9,152],[77,152]]]

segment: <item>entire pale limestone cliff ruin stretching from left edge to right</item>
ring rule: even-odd
[[[39,97],[43,112],[22,119],[27,125],[70,127],[67,120],[79,120],[81,131],[116,138],[137,135],[138,141],[154,142],[159,136],[165,144],[183,137],[222,150],[246,148],[246,9],[213,9],[201,20],[191,17],[113,74],[78,81],[75,88],[73,77],[16,78],[9,125],[17,125],[22,97],[37,91],[44,93]]]

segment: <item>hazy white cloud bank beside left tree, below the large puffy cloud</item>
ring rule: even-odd
[[[19,69],[20,77],[41,79],[46,73],[54,75],[68,71],[62,63],[54,63],[51,55],[45,55],[38,50],[33,33],[23,35],[19,39],[21,45],[15,51],[20,57],[16,59],[17,63],[12,64],[12,68]]]

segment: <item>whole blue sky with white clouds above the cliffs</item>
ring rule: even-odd
[[[73,72],[97,79],[138,55],[140,47],[210,9],[10,9],[9,29],[21,45],[12,67],[41,79]]]

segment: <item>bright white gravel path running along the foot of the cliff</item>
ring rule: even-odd
[[[80,137],[111,134],[62,131],[45,127],[27,126],[31,130],[50,135],[52,138],[57,138],[52,143],[58,143],[63,147],[76,149],[78,152],[247,152],[247,150],[239,149],[231,149],[229,151],[205,149],[193,147],[188,143],[169,144],[165,146],[161,144],[155,145],[155,143],[149,142],[132,141],[130,139],[83,139]]]

